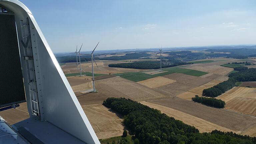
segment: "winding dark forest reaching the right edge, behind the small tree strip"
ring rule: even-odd
[[[227,90],[233,88],[236,82],[256,81],[256,68],[241,70],[228,75],[227,81],[221,82],[211,88],[204,89],[203,95],[207,97],[217,97]]]

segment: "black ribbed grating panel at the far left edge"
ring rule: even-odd
[[[0,14],[0,107],[25,101],[15,18]]]

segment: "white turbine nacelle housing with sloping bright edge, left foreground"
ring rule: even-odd
[[[21,134],[25,131],[22,135],[27,139],[26,133],[30,133],[45,144],[100,144],[31,11],[18,0],[0,0],[0,5],[15,15],[30,115],[29,119],[14,124],[14,129]],[[26,35],[23,28],[27,28]],[[26,49],[33,52],[32,59],[26,57]],[[28,60],[33,61],[34,71],[28,69],[31,66],[27,65]],[[31,73],[35,74],[34,88],[29,85]]]

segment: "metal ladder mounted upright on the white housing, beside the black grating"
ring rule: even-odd
[[[20,24],[21,24],[21,32],[22,32],[21,43],[24,47],[24,55],[25,55],[23,60],[26,61],[26,65],[27,65],[29,94],[30,94],[32,114],[40,117],[35,64],[34,64],[34,58],[33,58],[29,19],[27,18],[26,22],[21,20]]]

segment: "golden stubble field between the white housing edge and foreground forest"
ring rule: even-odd
[[[124,131],[122,119],[102,104],[82,106],[98,139],[121,136]]]

